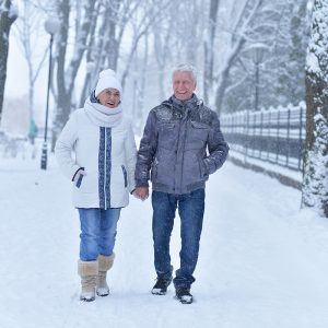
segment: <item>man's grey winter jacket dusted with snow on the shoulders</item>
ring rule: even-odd
[[[148,117],[138,152],[136,184],[168,194],[204,188],[209,175],[222,166],[229,152],[216,114],[194,94],[175,96],[154,107]]]

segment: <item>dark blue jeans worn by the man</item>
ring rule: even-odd
[[[174,195],[161,191],[152,192],[154,263],[157,278],[169,279],[171,266],[169,238],[174,225],[176,208],[180,216],[180,268],[173,280],[175,288],[190,288],[195,281],[199,239],[204,211],[204,189],[190,194]]]

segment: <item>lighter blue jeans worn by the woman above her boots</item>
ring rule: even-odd
[[[94,261],[113,254],[120,209],[78,209],[81,223],[80,259]]]

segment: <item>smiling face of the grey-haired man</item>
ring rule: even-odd
[[[173,91],[177,99],[184,102],[192,97],[196,82],[190,72],[175,71],[173,73]]]

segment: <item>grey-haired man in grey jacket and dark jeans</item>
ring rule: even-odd
[[[136,167],[136,194],[149,196],[152,181],[154,265],[156,295],[166,294],[173,267],[169,238],[175,211],[180,216],[180,268],[173,280],[176,297],[192,303],[190,286],[199,253],[204,212],[204,187],[209,175],[222,166],[229,147],[216,114],[197,98],[194,68],[180,65],[173,71],[173,91],[150,113],[140,141]],[[151,172],[151,174],[150,174]]]

